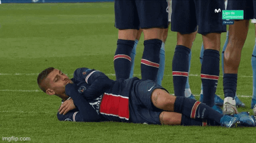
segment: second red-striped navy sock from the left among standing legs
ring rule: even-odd
[[[156,82],[161,46],[162,41],[159,39],[150,39],[144,41],[144,51],[140,64],[142,79],[151,79]]]

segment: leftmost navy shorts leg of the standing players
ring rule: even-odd
[[[115,26],[118,29],[139,29],[139,17],[134,0],[115,0]]]

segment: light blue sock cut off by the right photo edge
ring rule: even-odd
[[[252,98],[256,99],[256,38],[255,45],[252,52]]]

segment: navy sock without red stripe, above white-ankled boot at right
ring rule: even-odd
[[[237,74],[236,73],[224,73],[223,75],[223,91],[224,96],[234,98],[236,95],[236,83]]]

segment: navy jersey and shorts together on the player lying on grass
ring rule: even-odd
[[[104,73],[88,68],[78,68],[72,78],[74,84],[66,85],[66,94],[76,109],[66,115],[57,114],[61,121],[118,121],[160,124],[162,110],[151,102],[151,93],[160,85],[151,80],[109,79]]]

